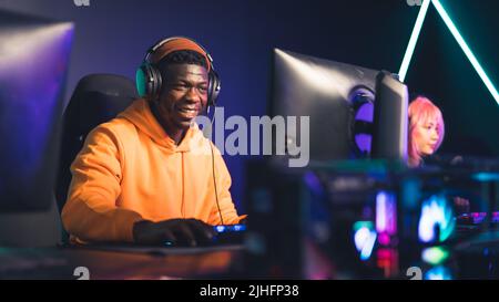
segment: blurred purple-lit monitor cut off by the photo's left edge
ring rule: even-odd
[[[49,209],[73,23],[0,11],[0,211]]]

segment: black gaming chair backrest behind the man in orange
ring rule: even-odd
[[[62,211],[68,197],[70,166],[89,132],[114,118],[138,97],[135,83],[125,76],[90,74],[80,80],[62,116],[62,144],[55,183],[59,211]]]

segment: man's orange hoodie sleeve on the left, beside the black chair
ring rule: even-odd
[[[86,137],[71,165],[73,178],[62,209],[62,222],[72,236],[85,241],[133,241],[135,211],[118,208],[122,149],[116,135],[99,126]]]

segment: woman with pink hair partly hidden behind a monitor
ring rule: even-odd
[[[440,147],[444,134],[440,110],[427,97],[416,97],[409,105],[409,166],[421,166]]]

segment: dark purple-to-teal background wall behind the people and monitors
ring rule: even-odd
[[[496,85],[498,2],[441,0]],[[65,102],[82,76],[102,72],[133,79],[152,43],[186,35],[214,59],[226,116],[245,117],[266,114],[273,48],[398,72],[418,13],[406,0],[90,0],[90,7],[72,0],[0,0],[0,9],[75,23]],[[406,83],[442,110],[442,153],[499,155],[499,105],[431,6]],[[225,156],[243,211],[248,158]]]

